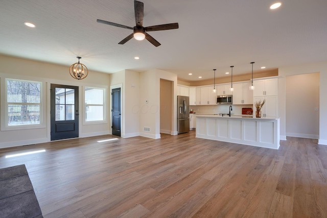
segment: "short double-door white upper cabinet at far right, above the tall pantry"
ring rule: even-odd
[[[278,95],[278,79],[253,81],[253,96],[274,96]]]

